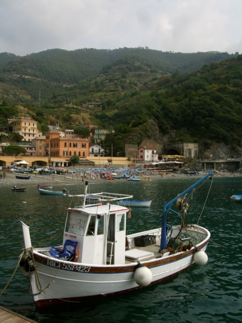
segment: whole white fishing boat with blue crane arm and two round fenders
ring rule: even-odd
[[[29,227],[21,222],[25,247],[19,263],[36,307],[130,292],[163,281],[194,263],[205,264],[210,233],[198,223],[186,223],[190,197],[202,182],[204,190],[208,186],[205,180],[211,176],[209,173],[164,205],[161,228],[128,236],[130,209],[118,201],[133,196],[88,192],[95,199],[87,201],[88,182],[84,194],[71,195],[74,205],[67,210],[61,246],[48,246],[47,234],[46,247],[33,247]],[[210,185],[207,188],[209,192]],[[200,219],[201,208],[198,213]]]

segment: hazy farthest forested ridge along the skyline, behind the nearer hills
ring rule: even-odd
[[[97,75],[118,59],[135,59],[152,71],[185,73],[205,64],[225,61],[237,56],[227,52],[163,52],[149,48],[94,49],[73,51],[49,49],[25,57],[0,54],[2,76],[20,75],[61,84],[74,84]]]

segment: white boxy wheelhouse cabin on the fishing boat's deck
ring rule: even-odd
[[[110,200],[106,197],[105,200]],[[130,209],[112,204],[113,201],[102,204],[100,200],[104,199],[68,208],[63,245],[67,239],[78,242],[78,262],[122,264],[125,262],[126,216]]]

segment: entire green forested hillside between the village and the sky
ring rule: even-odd
[[[242,147],[241,55],[144,48],[76,50],[71,61],[69,55],[55,49],[9,62],[0,79],[2,100],[38,121],[43,132],[56,123],[66,129],[112,128],[104,144],[112,143],[120,156],[125,143],[140,144],[143,138],[199,142],[205,149],[212,142],[234,151]],[[86,56],[79,68],[75,55]],[[74,82],[75,75],[80,81]]]

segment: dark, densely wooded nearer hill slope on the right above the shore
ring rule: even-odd
[[[241,80],[242,55],[195,72],[160,78],[148,90],[117,102],[115,110],[96,117],[108,117],[106,123],[125,128],[129,142],[168,134],[169,142],[199,142],[205,149],[223,142],[235,152],[242,147]]]

